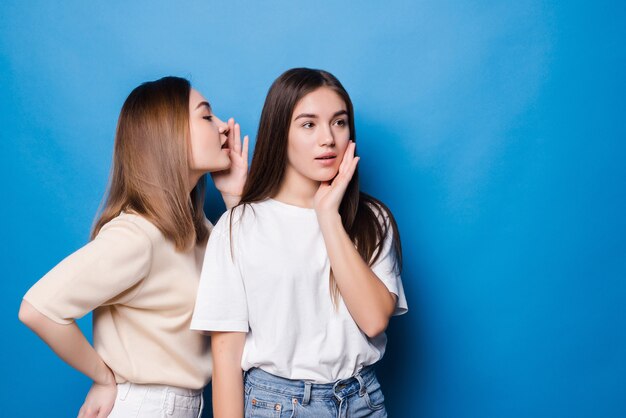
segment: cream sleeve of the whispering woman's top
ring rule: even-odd
[[[114,303],[148,275],[151,265],[148,235],[134,222],[115,218],[35,283],[24,300],[51,320],[69,324]]]

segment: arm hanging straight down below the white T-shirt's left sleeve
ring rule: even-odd
[[[244,341],[245,334],[243,333],[212,333],[213,415],[215,418],[243,417],[241,355]]]

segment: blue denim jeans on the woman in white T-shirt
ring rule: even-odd
[[[253,368],[244,376],[245,417],[386,418],[385,398],[374,368],[348,379],[315,384]]]

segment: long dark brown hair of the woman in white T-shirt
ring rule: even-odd
[[[348,111],[351,139],[356,141],[352,100],[339,80],[323,70],[293,68],[286,71],[274,81],[267,93],[250,173],[240,205],[259,202],[276,195],[287,166],[287,143],[293,110],[300,99],[320,87],[332,89],[343,99]],[[232,214],[233,212],[231,221]],[[358,169],[354,172],[343,196],[339,214],[350,239],[356,244],[363,260],[370,266],[380,257],[385,237],[391,228],[395,268],[398,273],[400,272],[402,246],[396,221],[391,211],[380,200],[359,191]],[[385,218],[387,221],[381,222],[381,219]],[[340,294],[332,272],[330,293],[337,306]]]

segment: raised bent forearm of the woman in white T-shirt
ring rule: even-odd
[[[318,215],[339,292],[359,328],[373,337],[384,331],[395,296],[372,272],[350,240],[338,213]]]

